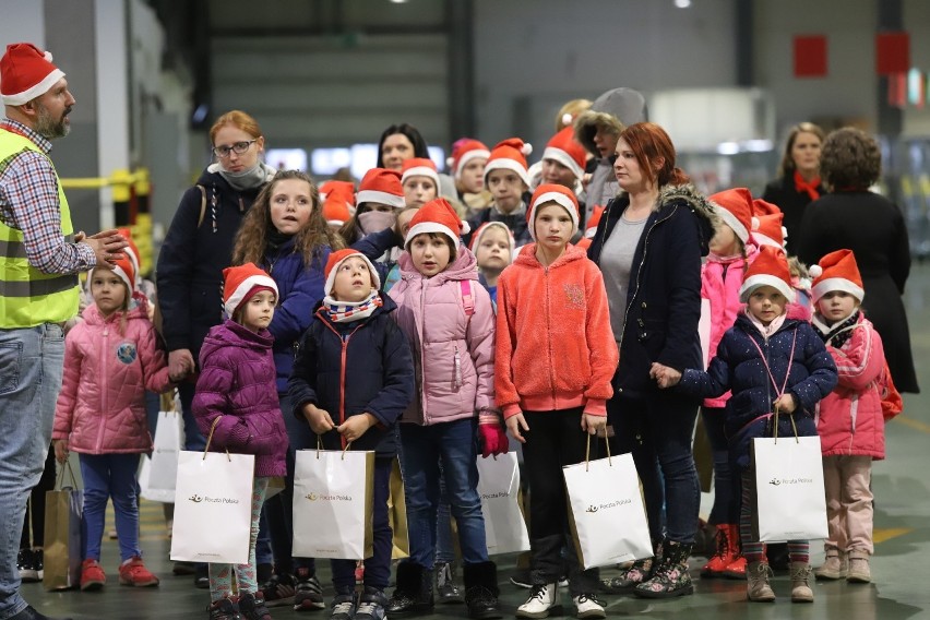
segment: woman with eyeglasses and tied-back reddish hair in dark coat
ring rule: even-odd
[[[175,375],[189,377],[179,386],[186,450],[205,445],[191,403],[201,345],[210,327],[223,321],[223,270],[231,263],[242,217],[276,172],[262,162],[265,139],[259,123],[243,111],[220,116],[210,140],[213,160],[181,198],[156,267],[168,366]],[[196,569],[195,585],[208,587],[206,564]]]

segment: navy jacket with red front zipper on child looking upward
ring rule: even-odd
[[[300,420],[311,403],[330,413],[338,426],[349,416],[369,413],[378,425],[368,429],[354,450],[374,450],[379,457],[397,453],[395,421],[414,400],[414,361],[404,332],[391,317],[397,309],[382,295],[383,306],[368,319],[333,323],[319,308],[300,339],[288,393]],[[326,450],[342,450],[336,431],[323,434]]]

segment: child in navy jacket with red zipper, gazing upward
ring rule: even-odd
[[[332,560],[332,620],[383,620],[391,574],[388,521],[391,464],[397,453],[395,420],[414,397],[407,338],[390,313],[396,306],[378,272],[356,250],[330,254],[326,297],[303,334],[288,383],[294,415],[307,419],[323,446],[373,450],[373,555],[365,560],[365,592],[355,600],[355,562]]]

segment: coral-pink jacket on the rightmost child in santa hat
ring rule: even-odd
[[[819,326],[815,324],[815,326]],[[840,348],[826,343],[839,383],[818,407],[816,431],[824,456],[885,457],[885,420],[879,379],[885,367],[882,338],[863,314]]]

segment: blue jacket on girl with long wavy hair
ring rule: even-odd
[[[277,371],[277,391],[287,393],[287,380],[294,366],[294,346],[313,320],[312,308],[323,299],[326,279],[323,270],[330,259],[330,248],[322,247],[309,265],[303,255],[294,251],[294,238],[281,248],[265,254],[263,270],[277,285],[278,302],[269,331],[274,336],[274,365]]]

